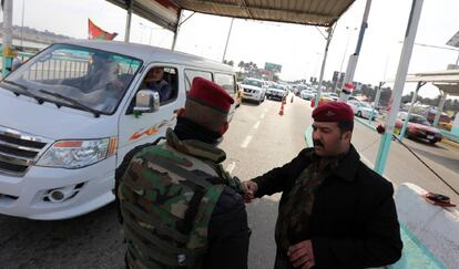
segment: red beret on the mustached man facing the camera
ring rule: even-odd
[[[315,122],[351,122],[353,108],[344,102],[326,102],[313,111]]]

